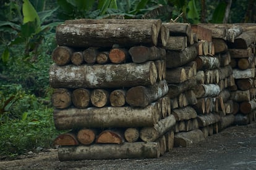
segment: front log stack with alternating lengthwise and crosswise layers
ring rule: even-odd
[[[176,124],[161,20],[67,20],[49,71],[59,160],[158,158]]]

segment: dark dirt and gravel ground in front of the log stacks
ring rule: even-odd
[[[232,126],[155,159],[59,161],[57,150],[0,161],[0,169],[256,169],[256,123]]]

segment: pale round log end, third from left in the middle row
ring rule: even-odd
[[[105,107],[109,103],[109,92],[105,89],[94,89],[91,94],[91,102],[95,107]]]

